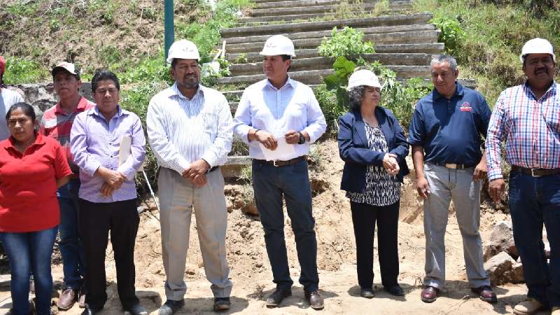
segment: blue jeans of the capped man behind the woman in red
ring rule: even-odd
[[[80,180],[74,179],[57,191],[60,205],[60,253],[66,288],[80,290],[85,276],[85,253],[78,232],[78,190]]]

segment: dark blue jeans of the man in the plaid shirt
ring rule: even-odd
[[[560,307],[560,174],[510,173],[510,213],[527,296]],[[550,243],[549,264],[542,242],[543,223]]]

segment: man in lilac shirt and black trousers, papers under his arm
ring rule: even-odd
[[[70,151],[82,183],[78,225],[87,274],[82,315],[99,312],[107,300],[104,260],[109,230],[120,302],[133,315],[148,314],[134,289],[134,242],[140,222],[134,175],[146,158],[146,139],[138,116],[118,105],[119,91],[114,73],[96,71],[92,92],[97,104],[76,116],[70,133]],[[124,145],[127,139],[132,140],[130,146]],[[121,146],[130,154],[119,163]]]

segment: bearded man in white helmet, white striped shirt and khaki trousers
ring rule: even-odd
[[[200,84],[200,56],[193,42],[176,41],[168,56],[175,83],[151,99],[146,118],[150,145],[161,167],[158,186],[167,302],[159,314],[174,314],[184,304],[193,209],[214,310],[224,311],[230,308],[232,282],[225,253],[228,211],[219,166],[232,146],[230,106],[223,94]]]

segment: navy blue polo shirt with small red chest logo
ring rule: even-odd
[[[482,94],[455,86],[451,99],[434,88],[419,100],[408,141],[423,146],[426,162],[477,165],[482,158],[480,136],[486,137],[491,111]]]

